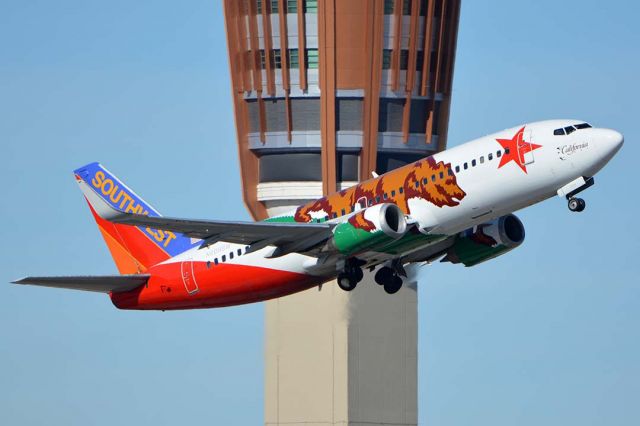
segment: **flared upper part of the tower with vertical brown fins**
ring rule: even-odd
[[[255,219],[283,182],[315,198],[446,146],[459,0],[224,4]]]

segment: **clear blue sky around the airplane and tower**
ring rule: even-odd
[[[262,304],[125,312],[6,284],[115,272],[71,174],[90,161],[167,214],[248,219],[220,4],[0,2],[0,423],[262,422]],[[626,144],[584,213],[549,200],[518,250],[424,272],[421,424],[640,424],[639,13],[463,1],[451,146],[552,117]]]

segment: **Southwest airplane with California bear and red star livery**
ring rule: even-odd
[[[520,246],[513,212],[559,196],[572,212],[624,143],[581,120],[529,123],[447,149],[261,222],[161,216],[99,163],[75,178],[120,275],[26,277],[14,283],[109,294],[120,309],[253,303],[363,270],[389,294],[406,266],[467,267]]]

